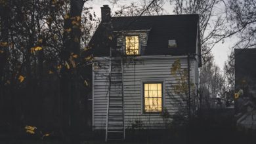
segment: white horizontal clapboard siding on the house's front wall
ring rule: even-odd
[[[177,112],[181,96],[173,94],[172,84],[177,84],[177,77],[171,75],[171,66],[179,58],[181,68],[187,68],[186,56],[158,58],[140,56],[135,60],[126,60],[123,65],[123,86],[125,105],[125,128],[132,128],[135,122],[142,122],[143,128],[164,128],[165,122],[160,113],[143,113],[143,82],[163,82],[163,107],[170,115]],[[93,127],[104,129],[106,126],[106,109],[108,94],[108,58],[95,58],[93,66]],[[191,83],[198,82],[198,63],[190,62]],[[171,96],[169,96],[171,94]],[[184,104],[185,105],[185,104]]]

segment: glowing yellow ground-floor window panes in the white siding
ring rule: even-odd
[[[144,112],[161,112],[162,84],[144,83]]]

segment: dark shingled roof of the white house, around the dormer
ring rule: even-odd
[[[110,23],[100,23],[89,46],[94,56],[109,56],[110,45],[116,46],[113,31],[150,30],[144,56],[194,54],[196,45],[201,54],[200,39],[197,43],[198,20],[198,14],[112,17]],[[110,35],[114,37],[113,43]],[[176,40],[177,48],[168,48],[169,39]]]

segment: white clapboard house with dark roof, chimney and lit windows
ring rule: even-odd
[[[181,69],[190,67],[191,107],[196,107],[201,66],[198,14],[111,17],[107,5],[101,9],[102,22],[89,43],[94,56],[95,130],[106,129],[107,121],[109,127],[124,123],[125,128],[165,128],[163,111],[173,115],[179,109],[175,98],[181,96],[170,96],[177,84],[171,67],[178,59]]]

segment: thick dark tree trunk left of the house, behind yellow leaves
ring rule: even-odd
[[[64,143],[79,143],[79,74],[76,64],[80,60],[81,14],[85,1],[70,1],[70,18],[64,22],[62,69],[63,128]],[[70,31],[71,29],[71,31]]]

